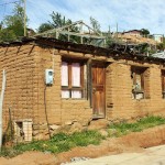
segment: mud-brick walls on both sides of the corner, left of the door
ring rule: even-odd
[[[89,101],[62,99],[61,63],[62,55],[57,50],[40,47],[34,43],[0,47],[0,81],[2,69],[7,73],[4,132],[10,117],[12,121],[32,119],[35,132],[44,132],[43,125],[44,130],[47,130],[47,123],[88,123],[92,112]],[[50,68],[54,69],[54,82],[53,86],[45,86],[45,69]]]

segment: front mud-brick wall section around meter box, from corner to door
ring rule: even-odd
[[[72,54],[72,53],[70,53]],[[76,56],[76,54],[74,54]],[[38,75],[38,110],[37,122],[45,122],[45,106],[50,124],[65,124],[73,121],[87,123],[91,119],[91,109],[88,100],[62,99],[61,90],[61,64],[62,55],[54,48],[40,48],[35,56]],[[54,82],[45,86],[45,69],[54,69]],[[45,90],[46,89],[46,90]],[[45,101],[44,101],[45,90]],[[45,105],[46,103],[46,105]]]

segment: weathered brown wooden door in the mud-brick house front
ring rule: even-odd
[[[95,64],[91,68],[92,72],[92,109],[94,117],[105,118],[105,81],[106,68],[103,65]]]

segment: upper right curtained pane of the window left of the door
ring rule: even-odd
[[[80,87],[80,64],[79,63],[72,64],[72,86]]]

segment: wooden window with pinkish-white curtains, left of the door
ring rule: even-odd
[[[80,99],[84,94],[84,64],[62,62],[62,98]]]

